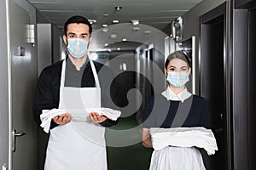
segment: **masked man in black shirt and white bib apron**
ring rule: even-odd
[[[92,28],[87,19],[71,17],[64,31],[67,59],[42,71],[33,101],[35,121],[50,133],[44,169],[105,170],[104,127],[115,122],[93,108],[101,108],[102,102],[112,105],[113,74],[88,56]]]

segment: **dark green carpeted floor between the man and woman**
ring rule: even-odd
[[[108,170],[148,170],[153,150],[143,146],[141,136],[135,116],[120,118],[107,128]]]

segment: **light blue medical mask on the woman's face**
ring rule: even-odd
[[[167,81],[174,88],[183,87],[186,82],[189,82],[189,72],[167,72]]]

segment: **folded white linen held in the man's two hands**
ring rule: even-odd
[[[72,111],[72,110],[71,110]],[[76,111],[76,110],[73,110]],[[55,116],[60,116],[61,114],[65,114],[70,112],[65,109],[52,109],[52,110],[43,110],[40,115],[41,119],[41,127],[44,127],[44,132],[49,133],[49,127],[51,119]],[[116,111],[110,108],[87,108],[83,110],[79,110],[76,113],[71,113],[74,121],[87,121],[87,116],[90,112],[97,112],[100,115],[107,116],[109,119],[116,121],[121,115],[121,111]]]

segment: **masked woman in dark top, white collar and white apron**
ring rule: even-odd
[[[190,65],[190,59],[183,51],[176,51],[167,57],[164,71],[168,87],[148,100],[143,113],[145,147],[153,147],[151,127],[209,127],[207,100],[190,94],[185,86],[189,82]],[[167,145],[162,150],[154,150],[150,169],[201,170],[205,167],[197,148]]]

